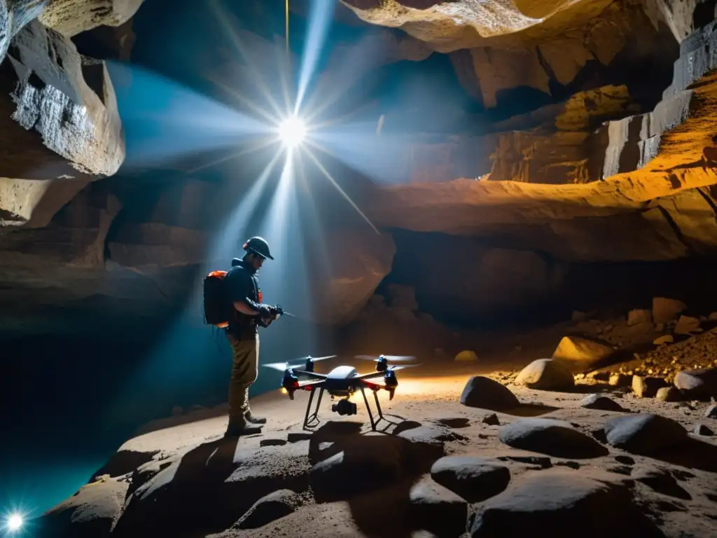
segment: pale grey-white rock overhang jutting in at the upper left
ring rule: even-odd
[[[125,156],[115,92],[103,62],[31,22],[0,65],[0,226],[42,227]],[[32,162],[32,166],[27,166]]]

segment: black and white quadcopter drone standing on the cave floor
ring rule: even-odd
[[[275,362],[271,364],[264,364],[267,368],[272,368],[284,372],[284,378],[281,382],[282,392],[289,395],[289,399],[294,399],[294,392],[297,390],[308,390],[310,391],[309,401],[306,405],[306,415],[304,417],[303,429],[308,430],[309,424],[315,424],[320,422],[318,419],[318,410],[321,405],[321,397],[326,391],[331,395],[331,399],[334,397],[340,397],[341,400],[338,403],[331,405],[331,411],[338,413],[338,415],[356,415],[356,404],[351,402],[349,398],[355,392],[361,392],[366,403],[366,410],[369,412],[369,420],[371,420],[371,430],[376,431],[376,425],[381,421],[385,420],[383,412],[381,412],[381,404],[379,403],[379,390],[386,390],[389,392],[389,400],[394,399],[394,393],[399,385],[396,377],[396,371],[399,369],[416,367],[419,364],[402,364],[398,366],[389,366],[390,362],[407,362],[415,359],[415,357],[407,357],[402,355],[379,355],[378,357],[372,355],[356,355],[355,359],[364,359],[376,362],[376,371],[369,372],[368,374],[359,374],[356,368],[352,366],[338,366],[328,372],[328,374],[320,374],[314,371],[315,362],[325,361],[327,359],[333,359],[336,355],[327,355],[326,357],[302,357],[300,359],[294,359],[291,362]],[[297,363],[298,364],[292,364]],[[303,366],[303,368],[300,368]],[[306,377],[308,379],[300,380],[299,377]],[[383,383],[376,383],[371,379],[382,377]],[[316,401],[315,408],[311,412],[311,402],[313,402],[314,391],[318,389],[318,400]],[[377,418],[374,420],[374,415],[371,413],[371,407],[369,406],[369,399],[366,397],[366,389],[374,392],[374,400],[376,400]]]

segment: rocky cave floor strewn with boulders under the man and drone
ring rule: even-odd
[[[304,392],[253,398],[269,423],[238,441],[222,437],[224,407],[158,420],[39,534],[714,536],[716,316],[685,308],[655,298],[611,319],[574,313],[511,354],[424,360],[394,400],[381,393],[377,432],[355,397],[358,415],[324,399],[318,427],[302,430]],[[559,331],[551,359],[536,358],[538,336]]]

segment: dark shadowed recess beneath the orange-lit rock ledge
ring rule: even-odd
[[[457,326],[503,329],[567,321],[572,311],[624,315],[651,308],[652,297],[687,303],[690,313],[717,311],[711,284],[717,256],[652,262],[565,263],[546,253],[490,240],[392,230],[391,273],[415,289],[421,311]]]

